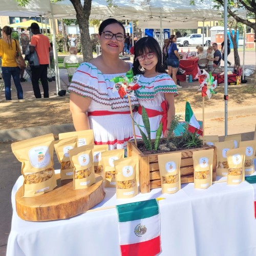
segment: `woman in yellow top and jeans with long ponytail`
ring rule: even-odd
[[[2,57],[2,75],[5,82],[5,98],[11,100],[11,77],[13,78],[18,99],[23,99],[22,85],[19,81],[20,69],[16,62],[16,44],[18,42],[11,39],[12,29],[5,26],[2,30],[2,39],[0,39],[0,57]]]

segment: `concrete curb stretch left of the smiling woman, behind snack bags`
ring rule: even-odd
[[[75,128],[73,123],[25,127],[22,129],[0,130],[0,142],[20,141],[20,140],[26,140],[26,139],[34,138],[34,137],[49,134],[49,133],[58,135],[59,133],[67,133],[67,132],[74,132],[74,131],[75,131]]]

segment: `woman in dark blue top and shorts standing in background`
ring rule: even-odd
[[[176,35],[170,35],[169,41],[167,44],[167,68],[168,68],[168,75],[172,76],[175,84],[177,85],[177,78],[176,74],[180,64],[180,55],[178,53],[178,48],[176,45],[177,37]],[[182,88],[181,86],[177,85],[177,88]]]

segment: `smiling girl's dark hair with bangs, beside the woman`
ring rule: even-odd
[[[162,63],[162,51],[158,44],[158,41],[153,37],[142,37],[136,42],[134,47],[134,61],[133,61],[133,73],[137,74],[144,74],[145,71],[140,66],[139,60],[137,60],[137,56],[147,54],[149,52],[154,52],[157,56],[157,65],[156,65],[156,72],[159,73],[166,73],[163,63]]]

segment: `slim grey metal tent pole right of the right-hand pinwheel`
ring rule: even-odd
[[[227,0],[224,0],[224,100],[225,100],[225,136],[227,136]]]

